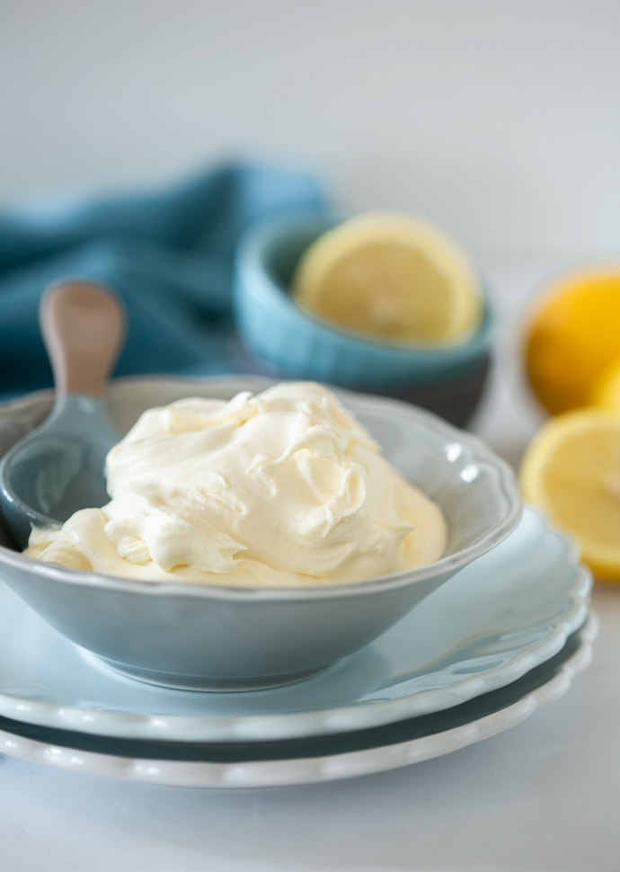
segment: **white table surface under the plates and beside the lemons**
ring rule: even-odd
[[[559,261],[561,262],[561,261]],[[559,262],[490,260],[497,366],[474,422],[513,464],[540,416],[523,299]],[[620,868],[620,587],[594,593],[594,658],[509,731],[399,770],[301,787],[149,786],[0,758],[0,870]]]

